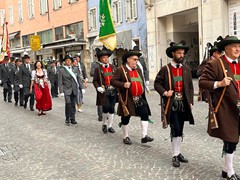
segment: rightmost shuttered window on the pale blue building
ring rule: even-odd
[[[137,18],[137,2],[136,0],[125,0],[126,21]]]

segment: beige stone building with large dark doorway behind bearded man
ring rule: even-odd
[[[162,64],[170,62],[166,48],[171,41],[186,40],[190,51],[185,62],[195,77],[207,42],[219,35],[240,37],[239,0],[146,0],[148,64],[154,79]]]

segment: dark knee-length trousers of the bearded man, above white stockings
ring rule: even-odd
[[[171,137],[179,137],[183,135],[184,112],[171,111],[170,127]]]

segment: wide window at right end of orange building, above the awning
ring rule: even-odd
[[[83,22],[78,22],[66,26],[66,36],[66,38],[77,38],[78,40],[83,40]]]

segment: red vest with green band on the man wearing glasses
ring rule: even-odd
[[[143,94],[143,81],[137,70],[128,71],[131,78],[132,96],[141,96]]]

